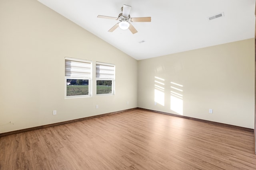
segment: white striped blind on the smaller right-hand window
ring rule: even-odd
[[[96,78],[114,80],[115,66],[112,64],[96,63]]]

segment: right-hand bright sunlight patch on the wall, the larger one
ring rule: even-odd
[[[176,113],[183,115],[183,95],[182,95],[182,85],[171,82],[171,110]]]

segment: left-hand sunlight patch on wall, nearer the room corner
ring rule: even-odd
[[[164,79],[155,77],[155,98],[154,101],[164,106]]]

